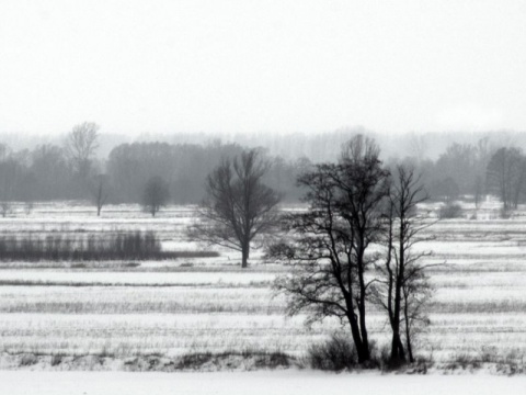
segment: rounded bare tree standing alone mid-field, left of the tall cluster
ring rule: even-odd
[[[256,149],[224,159],[207,177],[202,221],[188,236],[240,251],[241,267],[247,268],[252,240],[273,229],[278,219],[281,194],[263,183],[267,170]]]

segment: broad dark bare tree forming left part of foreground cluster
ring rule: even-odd
[[[299,178],[310,207],[286,218],[287,229],[298,235],[293,275],[275,283],[288,296],[289,314],[308,311],[311,320],[335,316],[350,325],[359,363],[370,359],[367,272],[378,259],[368,248],[384,233],[381,207],[388,195],[389,172],[378,155],[376,143],[358,135],[338,165],[318,165]]]

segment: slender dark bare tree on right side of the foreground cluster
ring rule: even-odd
[[[413,246],[430,239],[421,233],[433,222],[418,213],[418,204],[424,202],[427,194],[414,169],[397,166],[392,173],[386,211],[388,232],[382,240],[387,256],[384,264],[378,267],[382,273],[378,280],[381,285],[375,284],[374,294],[388,314],[392,330],[390,362],[397,365],[405,362],[408,357],[410,362],[414,361],[411,328],[423,309],[423,304],[415,303],[415,300],[428,289],[423,273],[425,266],[421,262],[428,252],[414,252]],[[405,336],[405,347],[402,336]]]

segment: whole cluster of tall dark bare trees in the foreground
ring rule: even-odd
[[[350,328],[358,362],[367,363],[368,306],[382,306],[391,362],[414,361],[411,340],[418,323],[425,323],[430,295],[423,255],[412,248],[430,226],[416,207],[426,199],[419,177],[404,166],[382,167],[376,143],[358,135],[336,163],[317,165],[298,182],[309,208],[282,218],[290,242],[275,253],[286,253],[293,268],[275,284],[287,295],[288,313],[338,317]]]

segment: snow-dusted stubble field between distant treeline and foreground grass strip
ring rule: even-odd
[[[432,325],[419,339],[419,353],[437,362],[462,354],[526,354],[526,216],[448,219],[430,229],[436,239],[430,271],[436,289]],[[198,250],[184,229],[194,208],[173,206],[151,218],[130,205],[93,207],[35,205],[0,219],[0,233],[92,234],[155,230],[164,248]],[[473,217],[472,213],[468,214]],[[0,262],[0,359],[9,356],[102,356],[126,360],[199,352],[285,352],[301,357],[310,343],[339,328],[335,321],[304,326],[284,316],[284,300],[271,289],[286,267],[252,255],[218,249],[218,258],[130,262]],[[387,341],[384,314],[369,314],[371,337]],[[36,362],[24,369],[59,369]],[[94,370],[114,369],[91,366]],[[116,366],[116,369],[121,369]],[[45,377],[45,376],[43,376]],[[0,380],[1,382],[1,380]]]

